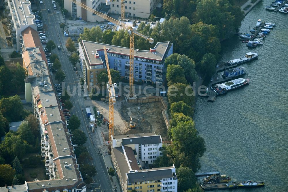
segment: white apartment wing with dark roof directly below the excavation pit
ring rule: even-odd
[[[162,138],[155,133],[114,135],[111,136],[111,140],[113,147],[131,147],[142,167],[153,164],[156,158],[162,155]]]

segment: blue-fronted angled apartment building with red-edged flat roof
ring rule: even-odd
[[[97,65],[107,65],[103,51],[104,46],[107,48],[110,69],[118,70],[122,78],[129,79],[130,50],[126,47],[82,40],[79,42],[81,66],[85,64],[85,59],[90,61],[98,59],[95,61],[98,62]],[[170,42],[158,42],[150,50],[134,49],[134,81],[162,85],[165,78],[164,61],[172,53],[173,44]],[[89,86],[91,87],[88,83]]]

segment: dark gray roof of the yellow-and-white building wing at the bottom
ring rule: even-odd
[[[173,172],[170,169],[161,170],[138,170],[138,172],[127,173],[129,183],[140,181],[153,181],[162,180],[163,178],[174,177]]]

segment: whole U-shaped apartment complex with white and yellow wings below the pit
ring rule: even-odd
[[[131,190],[177,192],[178,182],[174,165],[145,169],[147,164],[152,164],[154,160],[144,158],[147,157],[143,155],[144,152],[145,154],[156,152],[157,156],[162,155],[160,135],[155,133],[111,135],[111,141],[111,159],[123,192]],[[158,149],[153,151],[153,146]]]

